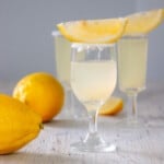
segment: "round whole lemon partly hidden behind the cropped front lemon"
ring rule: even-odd
[[[13,90],[13,97],[37,112],[43,122],[60,113],[65,92],[60,82],[47,72],[35,72],[23,77]]]

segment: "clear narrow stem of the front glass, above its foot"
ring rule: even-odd
[[[89,113],[89,133],[97,133],[97,115],[98,110]]]

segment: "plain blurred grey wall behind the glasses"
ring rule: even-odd
[[[51,32],[62,21],[105,19],[164,8],[164,0],[0,0],[0,81],[56,75]],[[164,80],[164,24],[150,35],[148,80]]]

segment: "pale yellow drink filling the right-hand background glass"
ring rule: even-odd
[[[145,87],[148,38],[127,36],[118,42],[118,74],[121,91]]]

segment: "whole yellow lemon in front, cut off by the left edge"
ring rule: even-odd
[[[0,154],[12,153],[35,139],[42,117],[27,105],[0,94]]]

